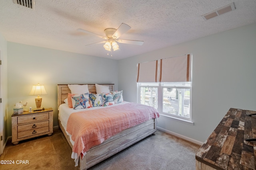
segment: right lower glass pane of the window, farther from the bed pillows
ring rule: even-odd
[[[163,112],[190,118],[190,89],[163,88]]]

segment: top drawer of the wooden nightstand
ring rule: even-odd
[[[47,119],[49,119],[49,112],[20,116],[18,117],[18,124],[30,123],[35,121],[47,120]]]

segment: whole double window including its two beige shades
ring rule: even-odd
[[[138,102],[167,117],[192,123],[192,55],[138,63]]]

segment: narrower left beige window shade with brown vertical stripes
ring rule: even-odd
[[[158,61],[138,64],[137,82],[157,82]]]

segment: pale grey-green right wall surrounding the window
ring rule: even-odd
[[[256,23],[118,61],[118,88],[136,102],[136,64],[192,53],[192,121],[158,127],[203,143],[228,109],[256,110]]]

